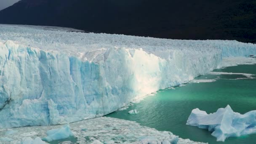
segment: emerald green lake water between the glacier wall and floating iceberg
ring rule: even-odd
[[[216,69],[214,72],[256,74],[256,65],[239,65]],[[256,134],[216,142],[211,132],[186,125],[187,118],[195,108],[209,113],[216,112],[217,109],[229,104],[235,112],[242,114],[256,110],[256,79],[230,80],[245,77],[243,75],[203,75],[196,79],[217,77],[220,79],[212,83],[188,83],[182,87],[175,87],[175,90],[160,90],[155,96],[148,96],[139,104],[134,104],[123,111],[113,112],[107,117],[136,121],[159,131],[171,131],[183,139],[209,144],[256,144]],[[139,113],[128,114],[132,109],[137,109]]]

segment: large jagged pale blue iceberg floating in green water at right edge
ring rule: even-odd
[[[207,114],[200,109],[193,109],[187,125],[212,131],[217,141],[225,141],[228,137],[256,133],[256,110],[241,115],[233,112],[231,107],[220,108],[215,113]]]

